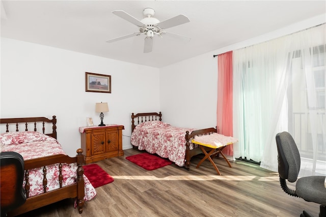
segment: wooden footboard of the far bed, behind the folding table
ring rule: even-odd
[[[203,153],[200,148],[194,148],[194,149],[190,149],[190,141],[192,140],[192,138],[198,136],[198,135],[204,135],[204,134],[210,134],[213,132],[218,132],[218,130],[216,128],[206,128],[206,129],[198,129],[198,130],[194,130],[189,134],[189,131],[185,132],[185,146],[186,146],[186,151],[185,151],[185,159],[184,159],[184,167],[187,170],[190,170],[190,160],[193,156],[197,155],[197,154],[201,154]]]

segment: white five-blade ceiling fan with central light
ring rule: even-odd
[[[155,35],[162,38],[163,34],[171,34],[177,37],[182,37],[186,40],[190,40],[190,38],[186,36],[182,36],[175,33],[169,33],[165,31],[168,28],[189,22],[190,20],[188,19],[188,17],[184,16],[183,14],[180,14],[178,16],[160,22],[158,19],[153,17],[155,11],[152,8],[144,9],[143,14],[145,18],[143,18],[142,20],[138,20],[137,18],[121,10],[112,11],[112,13],[127,20],[128,22],[131,22],[134,25],[137,25],[139,28],[139,32],[107,40],[106,42],[108,43],[130,38],[133,36],[145,35],[146,37],[145,37],[145,44],[144,44],[144,53],[148,53],[152,51],[153,40]]]

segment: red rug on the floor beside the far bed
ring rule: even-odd
[[[160,158],[150,153],[135,154],[127,156],[126,159],[144,168],[145,170],[155,170],[172,164],[170,160]]]

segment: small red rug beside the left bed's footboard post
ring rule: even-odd
[[[94,187],[99,187],[114,181],[114,179],[97,164],[85,165],[83,168],[85,176]]]

